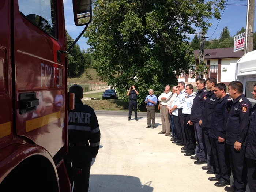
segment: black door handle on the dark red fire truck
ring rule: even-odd
[[[37,109],[39,105],[39,99],[37,99],[37,94],[33,92],[20,93],[19,94],[19,113],[25,114]]]

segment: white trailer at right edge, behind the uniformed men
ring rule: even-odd
[[[242,56],[236,63],[236,79],[244,85],[245,97],[254,105],[253,85],[256,84],[256,50]]]

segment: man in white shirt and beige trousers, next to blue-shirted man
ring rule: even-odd
[[[159,97],[158,101],[160,101],[160,114],[162,121],[162,131],[158,134],[165,134],[165,136],[169,136],[170,129],[170,117],[168,113],[168,101],[172,97],[172,92],[170,92],[171,87],[169,85],[165,86],[165,92],[163,92]]]

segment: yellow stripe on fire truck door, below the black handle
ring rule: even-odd
[[[32,131],[60,118],[60,112],[26,121],[26,132]]]

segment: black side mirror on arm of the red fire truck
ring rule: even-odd
[[[88,25],[91,22],[91,0],[73,0],[73,12],[76,26]]]

